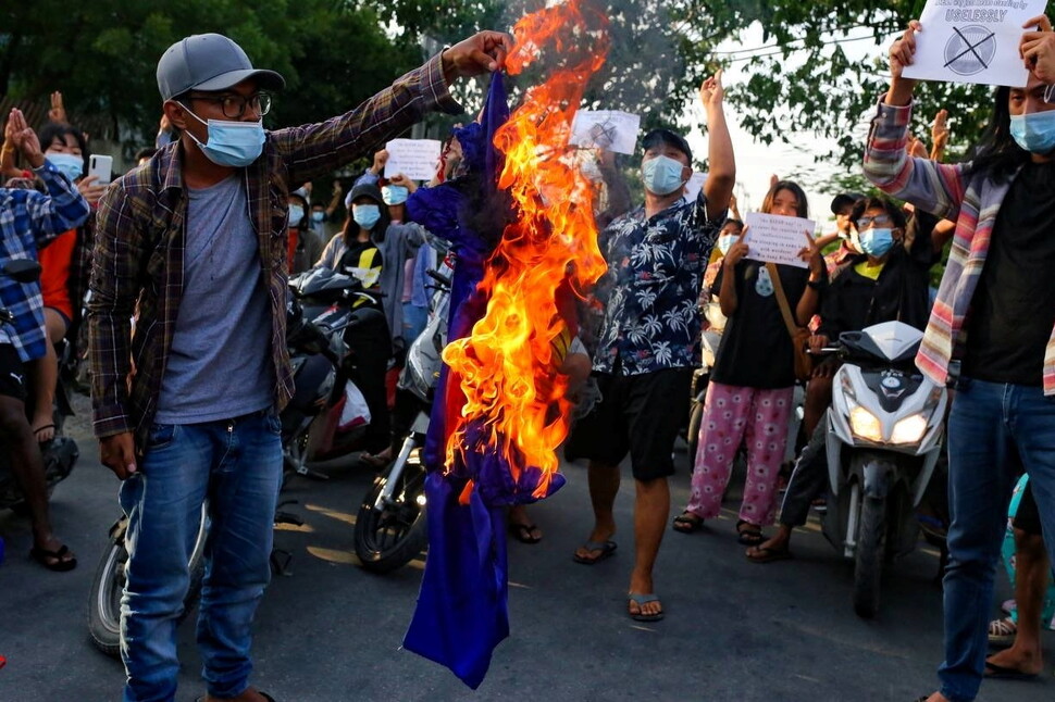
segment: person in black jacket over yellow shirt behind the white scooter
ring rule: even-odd
[[[931,237],[938,218],[917,212],[908,225],[901,208],[890,200],[865,198],[854,205],[851,221],[851,240],[864,253],[852,256],[832,276],[821,304],[821,326],[810,338],[815,352],[843,331],[858,331],[881,322],[897,319],[922,329],[930,314],[929,271],[941,251]],[[831,404],[836,369],[834,358],[826,360],[807,386],[807,404],[819,402],[821,413]],[[810,505],[828,486],[826,435],[826,424],[817,421],[787,484],[780,528],[771,539],[747,550],[749,561],[769,563],[791,557],[792,529],[806,524]]]

